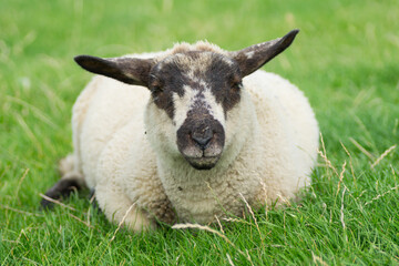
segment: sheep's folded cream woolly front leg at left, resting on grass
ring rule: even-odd
[[[150,219],[119,187],[98,185],[95,198],[109,221],[123,222],[123,226],[137,233],[156,227],[155,221]]]

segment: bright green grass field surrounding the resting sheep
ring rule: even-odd
[[[398,13],[397,0],[2,1],[0,265],[399,265],[399,147],[371,167],[399,140]],[[331,163],[320,157],[300,205],[212,225],[222,236],[116,231],[79,196],[39,211],[91,76],[73,55],[198,39],[234,50],[294,28],[264,69],[305,91]]]

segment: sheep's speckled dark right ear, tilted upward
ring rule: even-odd
[[[283,38],[229,52],[229,57],[238,62],[243,76],[248,75],[286,50],[298,32],[293,30]]]

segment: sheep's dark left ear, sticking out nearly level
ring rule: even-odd
[[[149,74],[154,65],[153,59],[111,58],[78,55],[74,61],[83,69],[110,76],[127,84],[149,86]]]

